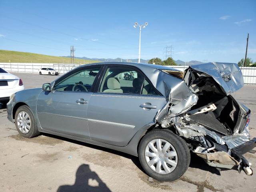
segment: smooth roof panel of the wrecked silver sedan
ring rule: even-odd
[[[92,63],[92,64],[86,64],[82,66],[90,66],[90,65],[106,65],[106,64],[119,64],[119,65],[130,65],[135,66],[143,70],[143,68],[154,68],[157,70],[174,70],[174,71],[180,71],[178,69],[175,69],[173,67],[169,66],[162,66],[162,65],[156,65],[156,64],[148,64],[148,63],[131,63],[131,62],[100,62],[100,63]],[[81,66],[81,67],[82,67]]]

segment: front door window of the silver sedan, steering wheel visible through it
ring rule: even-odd
[[[90,68],[72,74],[56,84],[56,91],[90,92],[100,67]]]

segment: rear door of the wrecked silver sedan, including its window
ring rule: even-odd
[[[124,78],[126,73],[133,78]],[[90,138],[98,142],[126,146],[166,103],[150,80],[132,66],[107,66],[98,87],[88,107]]]

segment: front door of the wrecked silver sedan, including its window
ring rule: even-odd
[[[87,110],[100,67],[74,70],[43,91],[37,102],[42,129],[89,139]]]

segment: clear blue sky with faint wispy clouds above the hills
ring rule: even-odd
[[[164,58],[175,60],[256,61],[255,0],[1,0],[0,49],[88,58]]]

